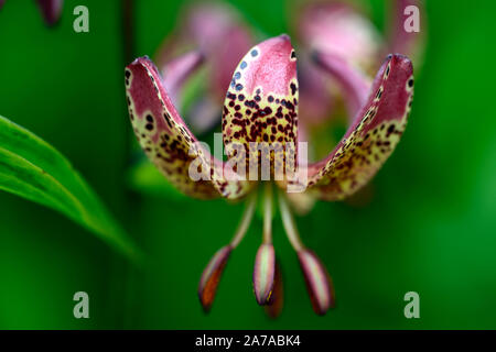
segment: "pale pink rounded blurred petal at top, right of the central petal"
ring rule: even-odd
[[[303,9],[300,36],[311,50],[334,54],[368,69],[381,41],[375,26],[347,3],[313,3]]]

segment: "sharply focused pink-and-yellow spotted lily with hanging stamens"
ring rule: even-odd
[[[327,54],[315,53],[314,57],[325,63]],[[148,57],[137,58],[126,68],[128,109],[136,136],[164,177],[193,198],[224,197],[246,202],[233,240],[215,253],[202,274],[200,301],[205,310],[211,309],[227,261],[252,221],[258,205],[257,189],[260,189],[263,235],[254,270],[257,302],[268,306],[269,314],[280,311],[281,275],[272,243],[272,218],[278,208],[288,239],[298,254],[313,309],[324,315],[335,304],[332,280],[317,255],[303,244],[287,190],[299,186],[306,189],[303,194],[312,197],[339,200],[353,195],[376,174],[406,127],[413,95],[412,64],[403,55],[386,57],[345,135],[327,157],[316,163],[303,161],[300,157],[303,148],[296,143],[299,79],[296,54],[290,37],[280,35],[251,47],[231,77],[223,107],[223,142],[228,155],[224,162],[197,143],[171,100],[160,70]],[[240,160],[240,152],[251,151],[251,143],[268,148],[277,143],[284,146],[282,151],[274,148],[273,153],[266,154],[269,155],[269,179],[241,177],[244,162],[250,170],[255,167],[257,172],[260,166],[263,172],[267,162],[258,152],[255,158],[250,155],[249,161]],[[241,148],[231,148],[233,144]],[[241,163],[235,163],[239,167],[233,168],[231,161]],[[284,169],[281,165],[288,164],[296,164],[298,177],[283,173],[282,178],[278,178]],[[192,165],[202,177],[191,177]],[[306,177],[300,177],[302,175]]]

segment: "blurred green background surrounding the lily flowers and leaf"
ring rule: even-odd
[[[89,33],[73,9],[89,9]],[[291,33],[285,1],[233,3],[267,35]],[[381,1],[365,1],[379,29]],[[134,56],[153,55],[176,25],[180,1],[134,8]],[[284,310],[268,319],[251,273],[261,222],[227,265],[213,310],[200,275],[233,235],[242,205],[165,199],[129,189],[132,160],[125,102],[120,1],[65,1],[47,29],[31,0],[0,10],[0,114],[63,152],[147,252],[136,268],[63,216],[0,193],[2,329],[495,329],[496,75],[494,1],[427,1],[429,37],[408,129],[373,182],[365,207],[320,202],[298,218],[302,237],[333,276],[337,308],[311,309],[296,256],[279,219],[274,243]],[[129,44],[129,43],[128,43]],[[73,317],[89,294],[90,319]],[[403,295],[420,295],[406,319]]]

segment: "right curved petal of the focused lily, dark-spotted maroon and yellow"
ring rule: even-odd
[[[389,55],[344,138],[326,158],[309,166],[308,187],[322,199],[338,200],[364,186],[399,142],[412,98],[410,59]]]

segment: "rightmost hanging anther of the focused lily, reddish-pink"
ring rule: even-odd
[[[313,310],[317,315],[323,316],[328,308],[334,307],[334,289],[331,276],[312,251],[299,251],[298,258],[300,260]]]

